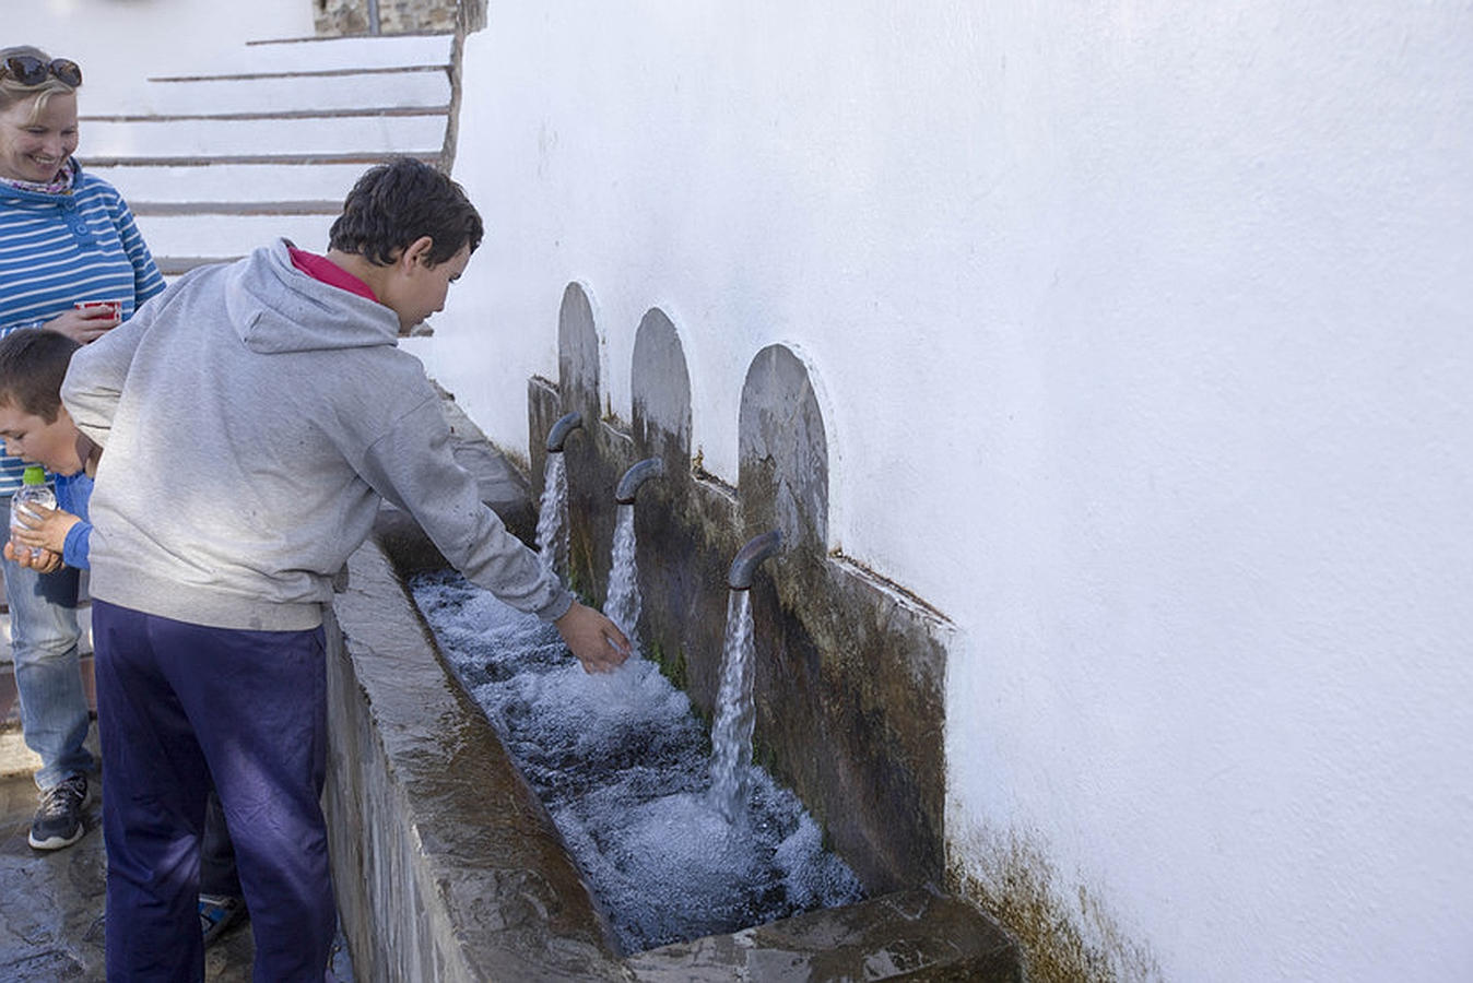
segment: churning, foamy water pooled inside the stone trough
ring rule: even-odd
[[[457,574],[412,590],[626,952],[863,898],[803,803],[760,767],[741,821],[713,808],[704,728],[653,662],[589,675],[555,628]]]

